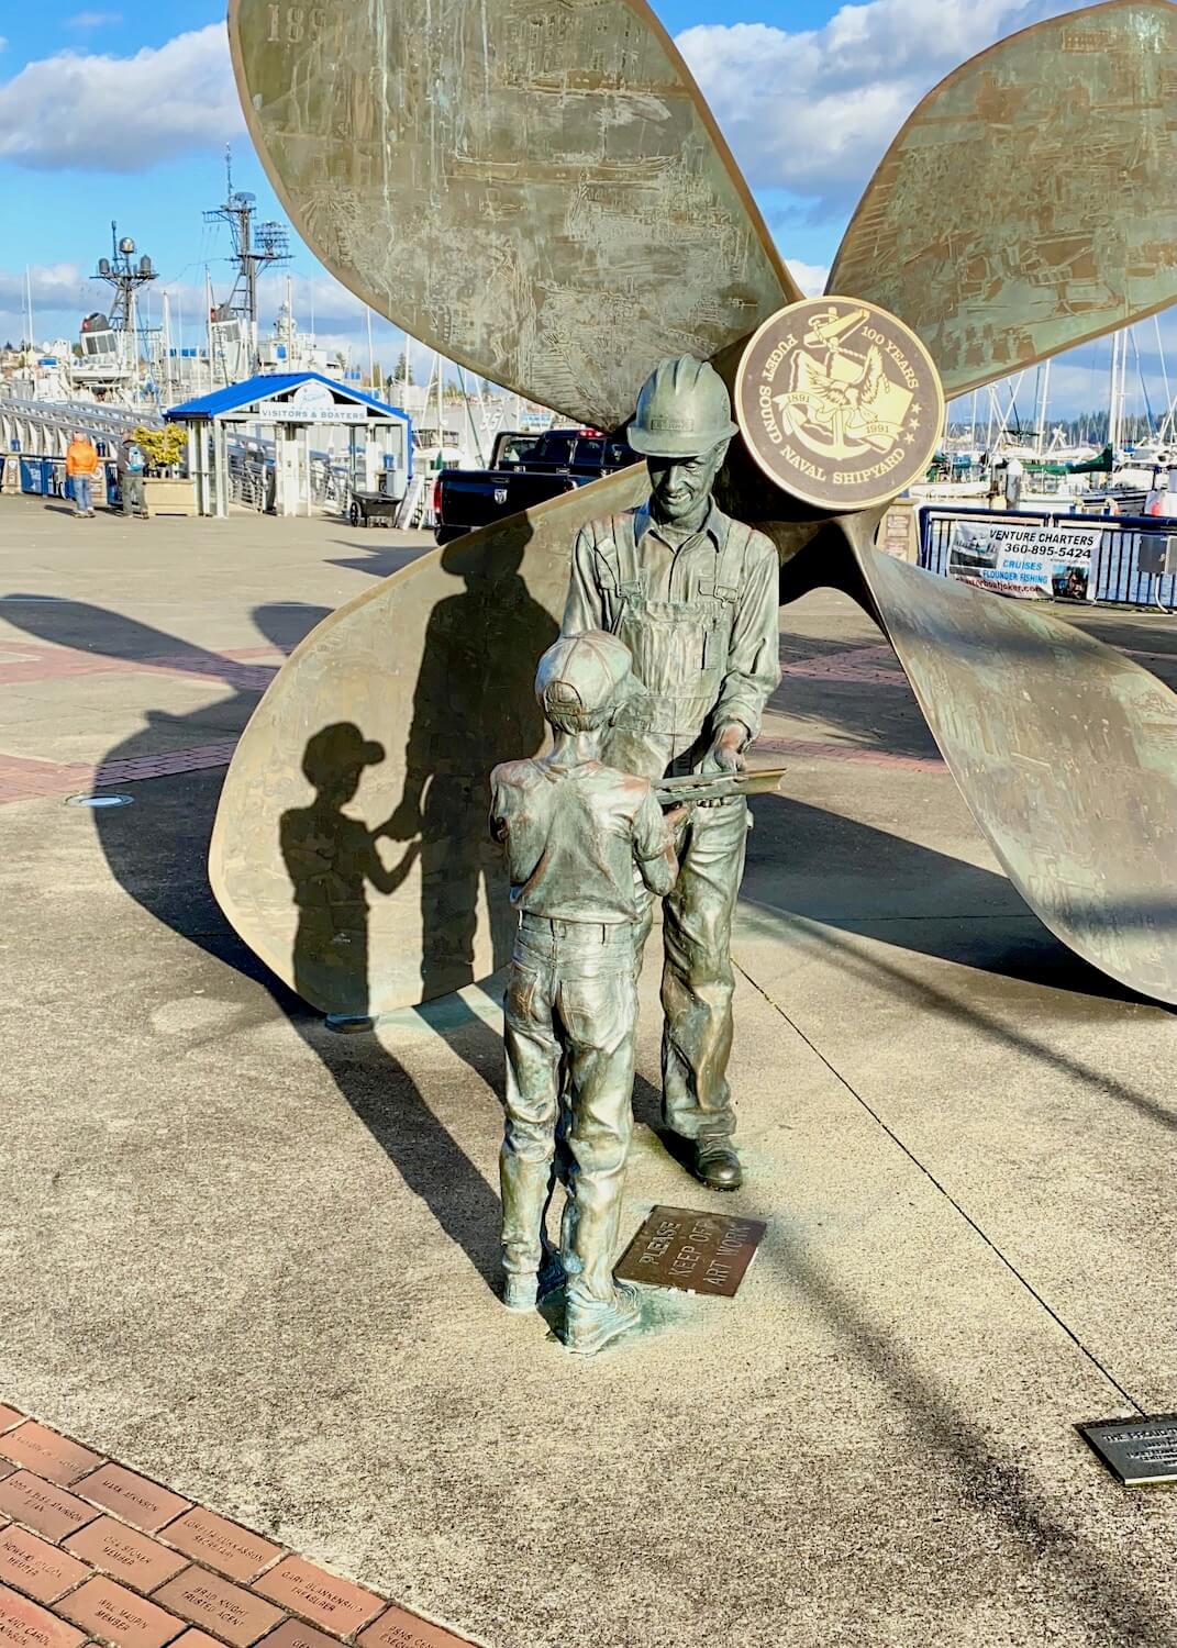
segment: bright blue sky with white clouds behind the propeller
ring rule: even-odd
[[[781,254],[818,292],[842,231],[887,143],[950,69],[1068,0],[656,0],[691,64]],[[26,333],[30,270],[38,341],[73,339],[107,290],[86,279],[110,250],[110,221],[152,257],[168,287],[173,328],[198,343],[208,265],[227,295],[227,229],[203,221],[224,198],[224,147],[234,190],[259,216],[284,219],[244,130],[229,68],[223,0],[77,0],[0,5],[0,343]],[[366,364],[366,318],[292,232],[293,259],[262,282],[269,330],[292,275],[300,326],[348,343]],[[1177,371],[1177,323],[1162,321]],[[155,316],[158,318],[158,310]],[[402,335],[373,320],[376,359],[391,368]],[[1162,400],[1152,321],[1137,328],[1152,404]],[[420,363],[427,359],[419,351]],[[1109,343],[1063,356],[1052,414],[1106,404]],[[1019,409],[1034,404],[1029,374]],[[1139,384],[1129,410],[1142,409]]]

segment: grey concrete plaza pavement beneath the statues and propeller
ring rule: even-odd
[[[107,1575],[74,1589],[119,1579],[13,1510],[38,1468],[5,1442],[33,1416],[267,1562],[438,1622],[404,1648],[442,1625],[1177,1648],[1177,1500],[1119,1486],[1075,1429],[1177,1409],[1177,1017],[1030,915],[849,602],[781,611],[765,745],[788,776],[753,803],[747,1182],[722,1201],[768,1233],[735,1300],[651,1295],[588,1363],[506,1315],[495,981],[336,1037],[227,928],[204,855],[234,740],[320,618],[425,547],[0,499],[0,1635],[8,1587],[73,1632],[43,1648],[138,1648],[2,1566],[36,1534]],[[1174,620],[1063,615],[1177,684]],[[130,804],[71,804],[94,788]],[[626,1238],[656,1203],[714,1205],[658,1135],[656,972]],[[216,1612],[152,1607],[234,1648]]]

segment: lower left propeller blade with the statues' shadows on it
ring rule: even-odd
[[[407,1007],[509,956],[486,775],[542,743],[536,661],[579,527],[646,493],[635,465],[422,555],[325,618],[275,676],[221,791],[209,875],[303,1000]]]

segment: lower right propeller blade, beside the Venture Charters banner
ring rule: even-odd
[[[940,751],[1030,910],[1101,972],[1177,1004],[1177,695],[1040,611],[872,547],[864,588]]]

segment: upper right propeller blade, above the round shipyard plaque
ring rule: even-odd
[[[889,148],[829,292],[907,320],[950,399],[1175,302],[1175,84],[1169,0],[982,51]]]

